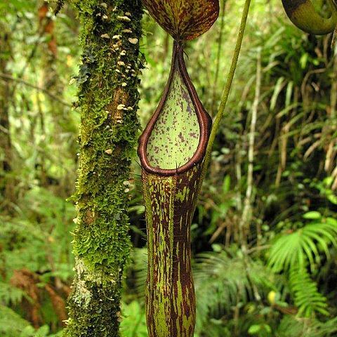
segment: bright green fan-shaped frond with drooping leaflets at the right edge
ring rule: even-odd
[[[337,220],[333,218],[310,223],[291,234],[283,234],[270,249],[268,265],[274,272],[304,267],[308,263],[311,270],[315,270],[321,262],[321,254],[329,258],[329,246],[337,246],[336,234]]]

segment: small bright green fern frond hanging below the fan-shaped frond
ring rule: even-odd
[[[317,312],[329,315],[326,310],[326,298],[319,293],[317,284],[310,279],[305,268],[293,269],[289,272],[289,284],[295,295],[295,304],[298,307],[298,316],[312,317]]]

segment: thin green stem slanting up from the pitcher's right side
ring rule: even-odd
[[[237,69],[237,60],[239,59],[239,54],[240,54],[241,46],[242,46],[242,40],[244,39],[244,30],[246,29],[246,22],[248,18],[250,5],[251,5],[251,0],[246,0],[244,3],[244,11],[242,12],[242,19],[241,19],[241,24],[239,27],[239,34],[237,36],[237,44],[235,46],[234,55],[232,58],[232,65],[230,66],[230,73],[228,74],[228,77],[227,77],[227,83],[225,86],[225,90],[223,91],[223,98],[220,103],[218,114],[216,115],[216,119],[213,122],[213,128],[211,131],[211,136],[209,138],[209,145],[207,146],[206,155],[204,159],[204,166],[201,172],[201,180],[200,180],[199,188],[201,188],[201,183],[206,176],[207,169],[209,168],[214,140],[216,139],[216,134],[218,133],[218,129],[220,127],[220,121],[223,118],[223,114],[225,112],[225,107],[227,105],[228,97],[230,95],[230,88],[232,86],[232,82],[234,79],[235,70]]]

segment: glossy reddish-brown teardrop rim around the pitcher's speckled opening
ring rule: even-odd
[[[154,131],[154,127],[159,119],[159,115],[163,111],[164,105],[168,98],[173,77],[175,73],[178,72],[181,77],[181,81],[185,85],[188,94],[190,96],[190,100],[192,101],[192,105],[194,107],[194,113],[197,115],[197,121],[199,124],[199,143],[197,145],[197,149],[188,161],[175,169],[164,169],[161,167],[153,166],[150,159],[148,158],[147,147],[149,145],[150,137],[152,136],[152,131]],[[171,72],[169,75],[169,80],[164,89],[164,94],[159,102],[157,110],[154,112],[154,115],[150,119],[149,123],[145,127],[143,134],[140,136],[138,143],[138,156],[140,158],[141,166],[148,173],[157,174],[159,176],[174,176],[179,173],[184,173],[190,170],[193,166],[201,163],[204,160],[204,156],[206,153],[206,147],[209,143],[209,135],[211,133],[211,117],[204,109],[202,103],[199,100],[197,95],[197,91],[195,90],[192,81],[187,74],[187,69],[185,66],[185,60],[183,56],[183,45],[179,42],[175,41],[173,45],[173,57],[172,57],[172,65]],[[169,126],[168,126],[169,128]],[[187,138],[188,142],[188,138]]]

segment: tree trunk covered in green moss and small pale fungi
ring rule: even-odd
[[[131,246],[128,180],[138,133],[140,0],[74,0],[82,62],[76,277],[64,336],[119,336],[121,278]]]

